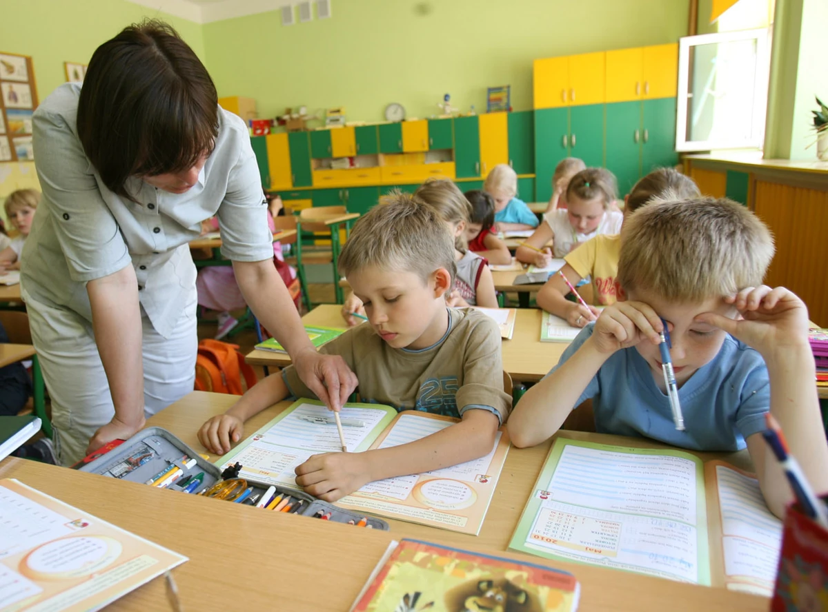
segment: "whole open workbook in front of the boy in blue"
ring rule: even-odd
[[[781,543],[758,481],[724,461],[559,437],[509,548],[770,596]]]

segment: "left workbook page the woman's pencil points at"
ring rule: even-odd
[[[339,416],[349,452],[366,450],[396,415],[383,404],[344,404]],[[330,410],[316,399],[299,399],[216,465],[224,470],[238,461],[240,478],[296,489],[296,466],[311,455],[341,450]]]

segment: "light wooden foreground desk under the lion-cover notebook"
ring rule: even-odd
[[[359,594],[388,543],[407,535],[396,522],[391,532],[358,529],[196,495],[176,495],[12,457],[0,462],[0,478],[17,478],[190,557],[172,571],[184,610],[343,612]],[[522,500],[513,501],[522,508]],[[489,509],[487,522],[492,515],[493,509]],[[448,533],[431,529],[429,537],[445,543],[443,536]],[[481,549],[479,538],[466,538],[469,547]],[[537,557],[501,554],[546,563]],[[579,610],[585,612],[768,609],[768,600],[755,595],[575,563],[551,565],[577,576],[581,583]],[[171,609],[161,578],[107,608],[130,612]]]

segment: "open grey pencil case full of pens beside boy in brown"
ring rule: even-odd
[[[226,478],[218,466],[201,457],[178,437],[161,428],[143,429],[126,441],[113,442],[108,445],[107,452],[95,452],[90,457],[79,461],[74,467],[78,471],[88,471],[122,481],[142,482],[147,485],[156,481],[156,485],[160,483],[165,485],[166,489],[182,494],[187,490],[192,495],[200,495],[209,491],[216,483]],[[235,473],[238,474],[238,470]],[[199,474],[204,475],[200,482],[195,478]],[[171,483],[166,485],[164,479]],[[198,484],[193,485],[194,482]],[[270,488],[271,485],[267,483],[244,479],[243,486],[238,484],[235,489],[228,490],[230,495],[217,499],[231,503],[235,501],[242,504],[255,504],[262,500],[262,496]],[[251,490],[248,491],[248,489]],[[243,497],[238,495],[243,491],[246,495]],[[288,499],[286,504],[280,507],[282,512],[325,519],[334,523],[351,523],[360,527],[388,530],[388,523],[382,519],[341,509],[303,490],[276,485],[273,498],[276,497],[281,497],[282,500]]]

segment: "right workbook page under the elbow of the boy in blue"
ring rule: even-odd
[[[718,498],[720,540],[711,546],[721,547],[724,586],[770,597],[782,549],[782,521],[768,509],[753,476],[723,461],[709,461],[705,473],[708,481],[715,482]]]

